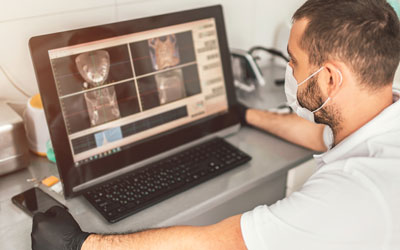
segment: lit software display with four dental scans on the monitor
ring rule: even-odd
[[[76,166],[228,110],[213,18],[49,51]]]

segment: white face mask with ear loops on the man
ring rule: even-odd
[[[294,78],[294,76],[293,76],[292,67],[290,67],[289,63],[286,66],[285,94],[286,94],[288,104],[293,109],[293,111],[296,112],[296,114],[298,116],[303,117],[304,119],[307,119],[311,122],[315,122],[314,113],[321,110],[329,102],[329,100],[331,98],[328,97],[328,99],[326,99],[326,101],[321,105],[321,107],[317,108],[314,111],[310,111],[310,110],[300,106],[300,104],[297,100],[297,89],[299,86],[301,86],[302,84],[304,84],[305,82],[307,82],[308,80],[313,78],[316,74],[321,72],[321,70],[323,70],[323,69],[324,69],[324,67],[321,67],[319,70],[317,70],[312,75],[307,77],[304,81],[302,81],[301,83],[297,83],[296,78]],[[343,77],[342,77],[342,73],[340,71],[338,71],[338,72],[341,77],[339,85],[341,85],[342,81],[343,81]]]

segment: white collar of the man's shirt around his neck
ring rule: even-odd
[[[357,152],[352,149],[359,146],[366,140],[376,135],[389,131],[394,126],[399,126],[398,119],[400,117],[400,91],[393,90],[393,104],[384,109],[378,116],[358,129],[356,132],[348,136],[334,148],[319,155],[314,155],[319,167],[345,159],[350,156],[355,156]]]

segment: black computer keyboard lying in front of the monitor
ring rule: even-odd
[[[250,159],[225,140],[215,138],[106,182],[84,196],[114,223]]]

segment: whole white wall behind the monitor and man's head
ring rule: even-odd
[[[201,6],[222,4],[230,47],[274,45],[281,23],[304,0],[14,0],[0,10],[0,65],[30,94],[37,84],[28,40],[32,36]],[[24,101],[0,72],[0,99]]]

